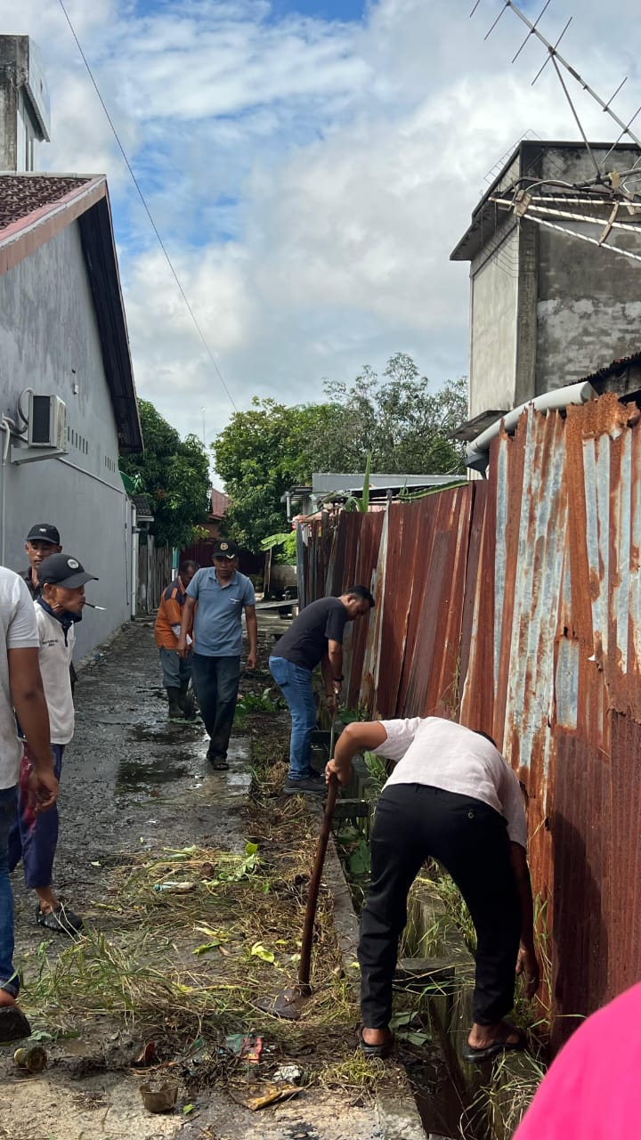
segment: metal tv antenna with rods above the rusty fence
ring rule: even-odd
[[[473,16],[480,6],[481,0],[476,0],[470,16]],[[487,31],[487,40],[500,19],[510,8],[514,15],[527,27],[527,35],[512,57],[512,63],[519,58],[526,43],[535,38],[546,50],[546,57],[532,81],[532,85],[537,82],[547,64],[552,64],[557,79],[561,85],[563,95],[568,101],[578,132],[583,139],[586,153],[594,169],[594,177],[581,182],[569,182],[563,179],[521,177],[510,187],[490,195],[490,202],[501,210],[510,210],[518,219],[528,218],[530,221],[550,229],[559,230],[571,237],[590,242],[597,246],[606,246],[612,252],[620,253],[634,261],[641,261],[641,253],[624,249],[614,244],[608,244],[610,235],[617,231],[641,234],[641,139],[632,130],[632,124],[641,113],[641,105],[627,121],[620,119],[612,108],[612,103],[627,81],[627,75],[622,80],[616,91],[605,101],[601,96],[583,79],[571,64],[559,51],[559,44],[568,31],[573,17],[566,22],[561,34],[554,43],[547,40],[539,30],[539,24],[547,11],[552,0],[545,3],[534,23],[521,11],[513,0],[503,0],[501,11]],[[577,83],[583,91],[601,107],[601,111],[609,116],[618,127],[619,133],[610,148],[603,154],[602,148],[598,152],[591,146],[586,131],[584,130],[581,116],[570,93],[569,80]],[[630,140],[630,149],[639,152],[634,163],[625,170],[614,169],[611,155],[616,152],[622,140]],[[566,225],[563,225],[566,223]],[[581,225],[581,231],[576,228]],[[587,233],[586,233],[587,226]]]

